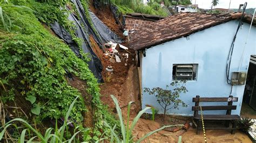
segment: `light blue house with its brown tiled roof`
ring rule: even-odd
[[[256,55],[256,27],[251,20],[241,13],[181,13],[140,27],[130,35],[130,48],[138,53],[142,109],[149,104],[164,112],[156,97],[143,92],[144,88],[165,88],[172,81],[186,80],[188,92],[180,99],[187,108],[180,106],[168,114],[192,116],[196,95],[232,95],[238,97],[234,103],[237,110],[232,114],[239,115],[250,58]]]

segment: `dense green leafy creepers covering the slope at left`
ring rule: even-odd
[[[86,118],[83,115],[89,112],[86,106],[91,106],[95,127],[90,132],[97,140],[104,131],[109,131],[103,120],[111,125],[118,121],[100,102],[97,79],[86,63],[90,59],[83,53],[82,59],[77,58],[68,45],[41,24],[59,22],[80,45],[82,40],[75,36],[74,26],[67,19],[70,11],[65,5],[72,6],[68,0],[0,2],[1,101],[14,103],[22,99],[26,108],[31,109],[29,123],[39,124],[45,119],[64,117],[69,105],[79,96],[69,120],[81,126]],[[86,95],[82,96],[69,85],[67,74],[86,81]],[[85,99],[91,99],[89,105],[85,105]]]

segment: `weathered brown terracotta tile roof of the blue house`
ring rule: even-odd
[[[238,17],[237,14],[232,16],[229,13],[213,15],[181,13],[173,15],[140,27],[138,31],[130,35],[130,48],[134,50],[149,48]]]

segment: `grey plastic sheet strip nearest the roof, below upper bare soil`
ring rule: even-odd
[[[117,34],[112,32],[102,21],[99,20],[99,18],[89,10],[92,23],[95,26],[97,32],[100,34],[104,42],[115,42],[115,43],[122,43],[122,40],[120,37],[118,37]]]

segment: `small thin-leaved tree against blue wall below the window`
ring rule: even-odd
[[[181,93],[186,93],[187,89],[184,86],[186,81],[173,81],[170,85],[166,85],[166,89],[163,88],[144,88],[144,92],[149,95],[154,95],[157,98],[157,102],[164,109],[164,118],[166,112],[171,109],[179,109],[178,106],[187,107],[187,105],[179,99]],[[168,89],[169,86],[174,87],[172,90]]]

